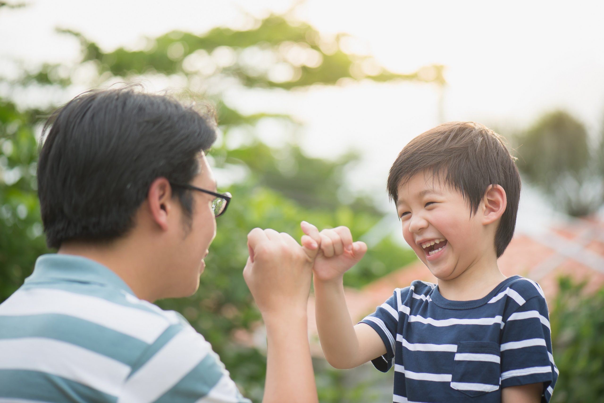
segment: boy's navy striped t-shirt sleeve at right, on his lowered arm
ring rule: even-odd
[[[543,296],[531,297],[507,316],[500,354],[502,388],[543,382],[542,402],[550,401],[558,369],[551,351],[550,319]]]

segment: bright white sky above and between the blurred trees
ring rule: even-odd
[[[79,46],[54,33],[71,28],[111,50],[141,37],[179,29],[203,33],[240,27],[244,13],[283,13],[291,0],[31,0],[0,11],[0,62],[76,60]],[[446,120],[474,120],[521,129],[564,108],[595,133],[604,122],[604,5],[599,1],[308,0],[295,10],[325,34],[347,32],[386,68],[411,72],[446,66]],[[384,192],[388,168],[411,138],[438,124],[438,91],[431,84],[323,87],[269,96],[227,92],[244,112],[271,110],[303,121],[308,153],[329,157],[350,148],[364,161],[351,185]],[[284,139],[266,125],[269,143]],[[385,195],[385,192],[384,192]],[[384,197],[385,198],[385,197]]]

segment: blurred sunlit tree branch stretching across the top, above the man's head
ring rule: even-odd
[[[99,73],[108,72],[118,77],[160,73],[199,75],[220,74],[236,78],[246,87],[292,89],[312,84],[335,84],[341,78],[368,77],[375,81],[394,79],[438,81],[442,74],[394,74],[380,66],[363,68],[373,62],[370,56],[346,54],[336,42],[321,38],[310,25],[292,25],[283,16],[269,16],[257,27],[246,31],[214,28],[198,36],[172,31],[156,39],[149,39],[146,49],[129,51],[124,48],[103,52],[95,43],[72,31],[80,39],[83,62],[99,63]],[[211,55],[211,60],[208,59]],[[271,77],[271,68],[281,66],[291,74],[277,79]],[[289,68],[288,68],[289,66]],[[358,67],[358,68],[357,68]],[[440,69],[434,68],[440,72]],[[439,81],[440,83],[440,81]]]

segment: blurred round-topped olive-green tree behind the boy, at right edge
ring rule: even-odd
[[[579,217],[604,203],[604,133],[591,139],[581,122],[556,111],[515,140],[519,170],[562,211]]]

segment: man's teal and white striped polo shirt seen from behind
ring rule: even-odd
[[[0,304],[0,403],[249,402],[210,343],[80,256],[43,255]]]

